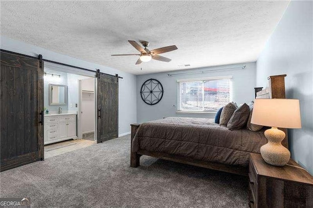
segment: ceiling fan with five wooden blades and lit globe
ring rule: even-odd
[[[140,52],[140,54],[114,54],[111,56],[139,56],[139,59],[137,60],[136,64],[140,64],[142,62],[149,62],[151,59],[161,61],[161,62],[170,62],[171,59],[165,58],[163,56],[159,56],[157,54],[166,53],[170,51],[177,50],[176,45],[166,46],[162,48],[156,48],[153,50],[149,50],[147,47],[149,46],[149,42],[142,41],[141,44],[143,47],[141,47],[137,42],[135,41],[128,41],[131,43],[134,48]]]

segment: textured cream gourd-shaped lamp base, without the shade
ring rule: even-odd
[[[290,151],[281,143],[286,136],[285,133],[272,127],[266,130],[264,135],[268,139],[268,143],[260,149],[264,161],[273,166],[285,166],[290,159]]]

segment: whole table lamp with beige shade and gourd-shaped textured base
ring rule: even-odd
[[[251,123],[271,127],[264,132],[268,143],[260,149],[264,161],[273,166],[285,166],[290,151],[282,146],[286,135],[277,127],[301,128],[299,100],[255,99]]]

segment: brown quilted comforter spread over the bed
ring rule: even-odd
[[[249,152],[260,153],[264,131],[229,130],[212,119],[169,117],[139,126],[132,151],[148,150],[229,165],[248,165]]]

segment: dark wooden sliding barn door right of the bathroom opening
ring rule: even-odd
[[[118,77],[97,72],[97,143],[118,137]]]

